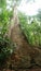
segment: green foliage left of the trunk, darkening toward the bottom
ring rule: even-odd
[[[6,10],[6,0],[0,0],[0,67],[6,58],[14,51],[14,44],[8,37],[8,26],[13,15],[12,11]]]

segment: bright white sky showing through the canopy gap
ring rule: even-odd
[[[32,2],[31,0],[29,3],[27,3],[26,0],[23,0],[18,7],[19,11],[28,15],[36,15],[38,9],[41,9],[41,0],[36,0],[36,2]]]

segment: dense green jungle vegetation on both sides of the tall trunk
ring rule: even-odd
[[[15,7],[19,7],[20,0],[10,1],[11,4],[6,0],[0,0],[0,67],[3,67],[6,58],[11,56],[16,47],[9,37],[9,27],[12,25],[12,19],[15,17]],[[10,5],[10,9],[8,9],[8,5]],[[26,36],[28,44],[31,47],[35,46],[41,49],[41,10],[33,16],[17,11],[17,16],[20,29]]]

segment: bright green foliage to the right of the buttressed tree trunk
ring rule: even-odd
[[[19,14],[20,28],[31,46],[41,47],[41,23],[33,20],[31,23],[24,14]],[[39,25],[40,24],[40,25]]]

